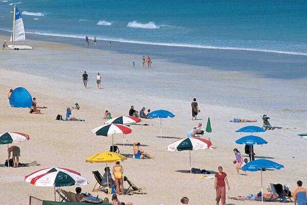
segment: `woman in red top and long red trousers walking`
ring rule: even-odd
[[[218,173],[215,174],[215,179],[214,179],[214,189],[216,190],[216,198],[215,198],[216,205],[220,204],[220,200],[222,200],[222,205],[225,204],[225,201],[226,201],[225,182],[229,190],[230,187],[229,187],[229,182],[227,179],[227,174],[223,172],[222,167],[218,167]]]

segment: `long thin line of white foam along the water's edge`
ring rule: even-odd
[[[3,31],[12,32],[12,30],[0,29]],[[69,38],[79,38],[83,39],[85,35],[74,35],[74,34],[59,34],[59,33],[46,33],[46,32],[27,32],[37,35],[47,35],[47,36],[58,36],[58,37],[69,37]],[[204,49],[221,49],[221,50],[242,50],[242,51],[257,51],[257,52],[268,52],[268,53],[280,53],[289,55],[304,55],[307,53],[296,52],[296,51],[280,51],[280,50],[270,50],[270,49],[257,49],[257,48],[239,48],[239,47],[217,47],[217,46],[204,46],[195,44],[176,44],[176,43],[156,43],[156,42],[144,42],[138,40],[127,40],[122,38],[107,38],[103,36],[96,36],[99,40],[111,40],[113,42],[130,43],[130,44],[145,44],[145,45],[155,45],[155,46],[172,46],[172,47],[187,47],[187,48],[204,48]],[[94,36],[89,36],[89,38],[94,38]]]

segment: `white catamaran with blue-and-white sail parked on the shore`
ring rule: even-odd
[[[25,27],[23,18],[21,18],[21,14],[17,9],[16,5],[14,5],[13,9],[13,28],[10,42],[12,45],[5,45],[6,49],[9,50],[28,50],[33,49],[32,46],[23,46],[23,45],[15,45],[17,41],[26,40]]]

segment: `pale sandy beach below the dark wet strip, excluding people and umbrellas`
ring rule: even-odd
[[[0,35],[0,41],[7,39]],[[34,187],[24,181],[24,176],[38,169],[64,167],[76,170],[89,181],[83,192],[92,193],[95,178],[92,171],[103,173],[104,164],[86,163],[85,158],[94,153],[108,151],[111,137],[95,136],[91,129],[103,125],[105,110],[112,116],[127,115],[131,105],[136,110],[169,110],[176,115],[163,120],[163,138],[160,138],[160,120],[144,119],[134,126],[133,133],[115,135],[121,153],[133,154],[131,144],[138,140],[143,149],[155,159],[136,160],[128,158],[121,165],[124,176],[136,185],[146,188],[146,195],[119,196],[120,200],[134,204],[180,204],[183,196],[189,204],[215,204],[213,179],[201,179],[200,174],[189,174],[188,152],[167,152],[166,148],[198,122],[204,126],[210,117],[212,150],[192,151],[192,167],[217,171],[222,166],[228,175],[230,190],[227,197],[246,196],[260,191],[260,172],[237,175],[232,161],[233,149],[244,153],[244,146],[235,140],[244,134],[234,131],[246,125],[262,126],[260,115],[268,114],[273,126],[280,130],[259,134],[267,145],[255,146],[257,158],[272,159],[284,169],[264,172],[264,187],[269,183],[287,184],[291,191],[296,181],[307,182],[307,140],[296,136],[306,132],[307,108],[306,78],[265,78],[249,72],[225,71],[206,66],[193,66],[155,58],[152,68],[141,68],[141,57],[136,54],[119,53],[102,49],[87,49],[62,43],[28,41],[29,51],[0,50],[0,128],[1,132],[14,131],[30,135],[30,140],[18,144],[20,162],[36,160],[39,166],[26,168],[0,167],[0,187],[3,190],[0,204],[28,204],[29,196],[53,200],[53,188]],[[150,53],[149,53],[150,54]],[[147,55],[147,53],[144,53]],[[287,55],[284,55],[287,57]],[[136,69],[132,69],[132,62]],[[88,89],[82,84],[82,73],[89,73]],[[94,80],[102,74],[102,87],[98,90]],[[47,106],[42,114],[29,114],[29,109],[12,108],[7,99],[10,88],[25,87],[37,104]],[[198,99],[201,113],[191,120],[191,100]],[[78,102],[81,109],[73,115],[85,122],[57,121],[57,114],[65,115],[67,107]],[[252,124],[232,123],[233,118],[257,119]],[[288,129],[286,129],[288,128]],[[207,134],[204,135],[207,138]],[[244,154],[245,156],[245,154]],[[0,146],[0,164],[7,157],[7,146]],[[248,157],[247,157],[248,158]],[[110,165],[112,167],[113,164]],[[125,188],[128,187],[124,182]],[[75,187],[65,190],[74,191]],[[4,191],[5,190],[5,191]],[[102,192],[94,196],[111,198]],[[260,204],[259,201],[236,201],[227,204]],[[267,202],[277,204],[278,202]]]

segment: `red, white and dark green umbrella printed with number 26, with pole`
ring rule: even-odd
[[[177,141],[174,141],[172,144],[170,144],[169,146],[167,146],[167,151],[185,151],[188,150],[189,151],[189,156],[190,156],[190,173],[192,173],[191,171],[191,150],[204,150],[207,148],[210,148],[212,146],[212,142],[204,139],[204,138],[200,138],[200,137],[187,137],[187,138],[183,138],[183,139],[179,139]]]

